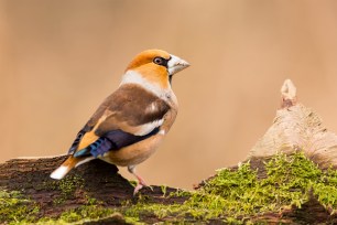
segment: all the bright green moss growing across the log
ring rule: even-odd
[[[240,164],[237,170],[220,169],[213,179],[193,192],[177,190],[167,194],[166,186],[161,186],[163,199],[186,197],[182,204],[174,201],[168,205],[157,204],[149,196],[140,194],[137,203],[134,200],[127,200],[122,207],[107,208],[101,202],[87,196],[85,205],[64,212],[56,221],[40,219],[40,224],[80,223],[109,217],[115,213],[121,213],[126,222],[132,224],[142,224],[149,218],[151,222],[160,222],[163,218],[173,223],[217,219],[226,224],[251,224],[252,222],[247,219],[251,216],[257,218],[264,213],[280,213],[292,206],[301,208],[312,195],[329,212],[336,213],[336,170],[322,171],[301,152],[293,156],[274,156],[265,162],[264,168],[265,178],[259,178],[259,171],[251,169],[250,162]],[[69,178],[53,185],[63,193],[61,196],[68,197],[73,196],[81,183],[79,178]],[[0,201],[2,222],[33,221],[37,212],[34,204],[22,199],[17,192],[3,193],[0,200],[4,199],[7,203]],[[7,210],[4,205],[9,205],[11,210]],[[31,215],[32,218],[26,215]],[[263,221],[259,223],[263,224]]]

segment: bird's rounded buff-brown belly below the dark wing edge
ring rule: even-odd
[[[122,149],[109,151],[100,159],[120,167],[137,165],[154,153],[162,139],[162,135],[155,135]]]

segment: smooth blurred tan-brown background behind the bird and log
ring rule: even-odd
[[[173,81],[173,129],[138,167],[150,184],[191,189],[244,160],[285,78],[337,131],[337,1],[0,0],[0,161],[65,153],[153,47],[192,66]]]

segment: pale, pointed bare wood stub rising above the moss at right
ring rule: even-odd
[[[314,110],[297,103],[296,87],[290,79],[284,82],[281,95],[281,109],[276,111],[272,126],[251,149],[249,159],[303,150],[320,168],[337,168],[337,136],[323,126]]]

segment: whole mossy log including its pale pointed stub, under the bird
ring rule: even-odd
[[[133,196],[133,185],[117,167],[99,160],[61,181],[50,173],[66,156],[2,163],[0,223],[335,224],[337,136],[297,103],[291,81],[281,94],[273,125],[248,159],[193,192],[157,185]]]

